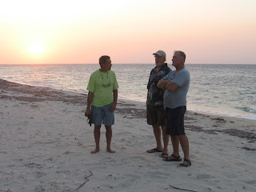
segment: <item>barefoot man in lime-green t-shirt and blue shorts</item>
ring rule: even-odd
[[[91,122],[94,123],[94,140],[96,143],[95,150],[90,151],[96,154],[99,151],[100,129],[102,124],[106,127],[106,150],[111,150],[112,125],[114,125],[114,110],[118,101],[118,82],[111,70],[111,60],[109,56],[103,55],[99,58],[101,69],[94,71],[90,75],[87,86],[89,90],[87,97],[87,107],[85,115],[91,115]]]

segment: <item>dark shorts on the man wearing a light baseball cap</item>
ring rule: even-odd
[[[151,106],[146,104],[146,121],[152,126],[166,125],[166,111],[163,106]]]

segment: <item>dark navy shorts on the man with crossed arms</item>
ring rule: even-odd
[[[174,109],[166,108],[166,134],[170,134],[170,136],[185,134],[185,112],[186,106],[178,106]]]

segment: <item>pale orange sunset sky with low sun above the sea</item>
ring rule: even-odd
[[[8,0],[0,2],[0,64],[256,64],[255,0]]]

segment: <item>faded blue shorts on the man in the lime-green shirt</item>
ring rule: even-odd
[[[104,124],[105,126],[114,125],[114,111],[110,111],[111,105],[106,106],[91,106],[91,120],[95,126],[101,126]]]

